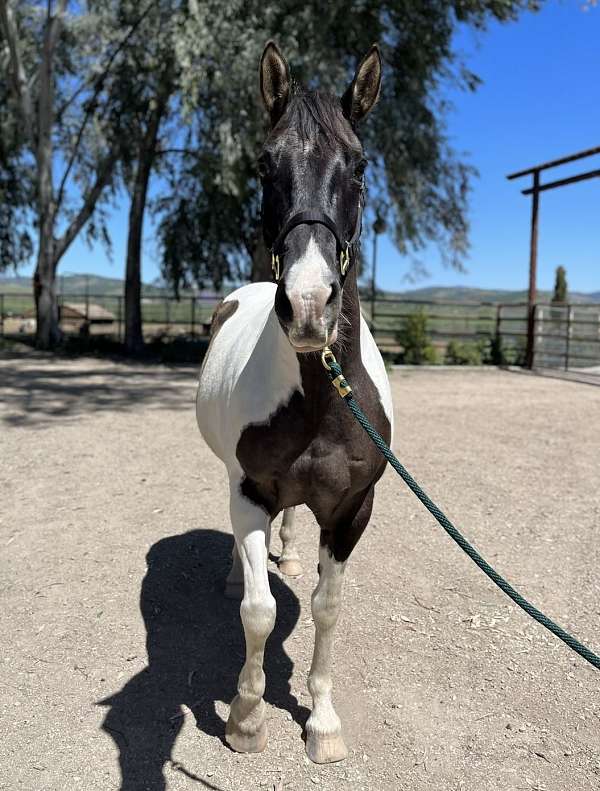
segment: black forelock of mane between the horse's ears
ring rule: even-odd
[[[360,151],[360,143],[350,123],[344,116],[342,104],[337,96],[323,91],[309,91],[294,86],[278,129],[293,129],[301,140],[310,140],[314,145],[326,144],[330,148]]]

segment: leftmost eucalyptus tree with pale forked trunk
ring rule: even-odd
[[[121,135],[109,113],[107,75],[145,13],[123,30],[99,24],[81,3],[0,0],[10,113],[20,130],[23,172],[31,174],[41,348],[60,337],[55,283],[62,256],[84,226],[89,238],[109,240],[97,209],[113,185]]]

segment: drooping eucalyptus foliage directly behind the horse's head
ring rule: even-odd
[[[378,41],[384,60],[377,111],[362,130],[370,156],[374,209],[386,217],[402,252],[436,242],[459,264],[467,250],[467,204],[474,171],[452,150],[445,129],[450,84],[473,90],[453,48],[461,26],[515,20],[535,0],[306,0],[232,2],[192,17],[180,42],[188,68],[183,97],[198,132],[196,155],[182,159],[158,204],[163,273],[176,285],[246,275],[269,277],[258,233],[256,159],[265,118],[257,64],[268,38],[286,53],[302,82],[344,86],[355,57]],[[315,87],[310,85],[309,87]]]

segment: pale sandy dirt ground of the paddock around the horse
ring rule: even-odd
[[[388,471],[346,575],[334,695],[348,760],[304,756],[317,530],[271,563],[269,744],[222,738],[243,658],[221,587],[226,478],[196,371],[0,360],[0,788],[589,791],[600,673],[475,568]],[[395,371],[395,449],[534,603],[600,649],[600,389]],[[272,551],[277,555],[275,531]]]

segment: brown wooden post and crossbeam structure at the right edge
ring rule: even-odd
[[[516,173],[510,173],[507,179],[517,179],[523,176],[531,175],[531,186],[527,189],[521,190],[523,195],[531,195],[531,237],[529,243],[529,296],[528,296],[528,316],[527,316],[527,351],[526,351],[526,365],[528,368],[533,367],[534,362],[534,346],[535,346],[535,302],[537,296],[537,243],[538,243],[538,227],[539,227],[539,208],[540,208],[540,192],[546,190],[556,189],[557,187],[566,187],[567,184],[575,184],[578,181],[586,181],[587,179],[597,178],[600,176],[600,169],[590,170],[586,173],[578,173],[575,176],[568,178],[558,179],[557,181],[548,181],[545,184],[540,183],[540,173],[542,170],[549,168],[556,168],[559,165],[566,165],[568,162],[575,162],[578,159],[600,154],[600,146],[595,148],[588,148],[585,151],[579,151],[577,154],[570,154],[560,159],[553,159],[550,162],[544,162],[541,165],[534,165],[533,167],[519,170]]]

